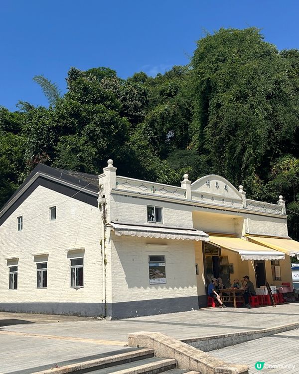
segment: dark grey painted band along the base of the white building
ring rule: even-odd
[[[177,297],[169,299],[152,299],[110,303],[107,305],[107,316],[112,318],[128,318],[157,315],[163,313],[185,312],[198,309],[206,303],[205,296]],[[0,303],[2,312],[68,314],[76,316],[104,316],[102,303]]]

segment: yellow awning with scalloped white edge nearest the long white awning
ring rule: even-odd
[[[221,248],[239,253],[242,260],[284,260],[285,253],[252,243],[245,239],[209,236],[209,242]]]

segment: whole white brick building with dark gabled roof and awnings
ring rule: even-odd
[[[39,165],[0,211],[0,310],[198,309],[212,275],[292,282],[298,253],[282,197],[249,200],[215,175],[181,187],[120,177],[112,160],[100,176]]]

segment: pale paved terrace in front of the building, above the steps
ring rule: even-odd
[[[17,324],[18,320],[24,323]],[[208,308],[117,321],[0,313],[0,373],[127,349],[128,334],[137,331],[186,339],[295,322],[299,322],[299,303],[276,308]]]

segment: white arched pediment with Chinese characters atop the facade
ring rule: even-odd
[[[242,199],[241,193],[225,178],[210,174],[191,184],[191,191],[202,194],[221,196],[226,199]]]

